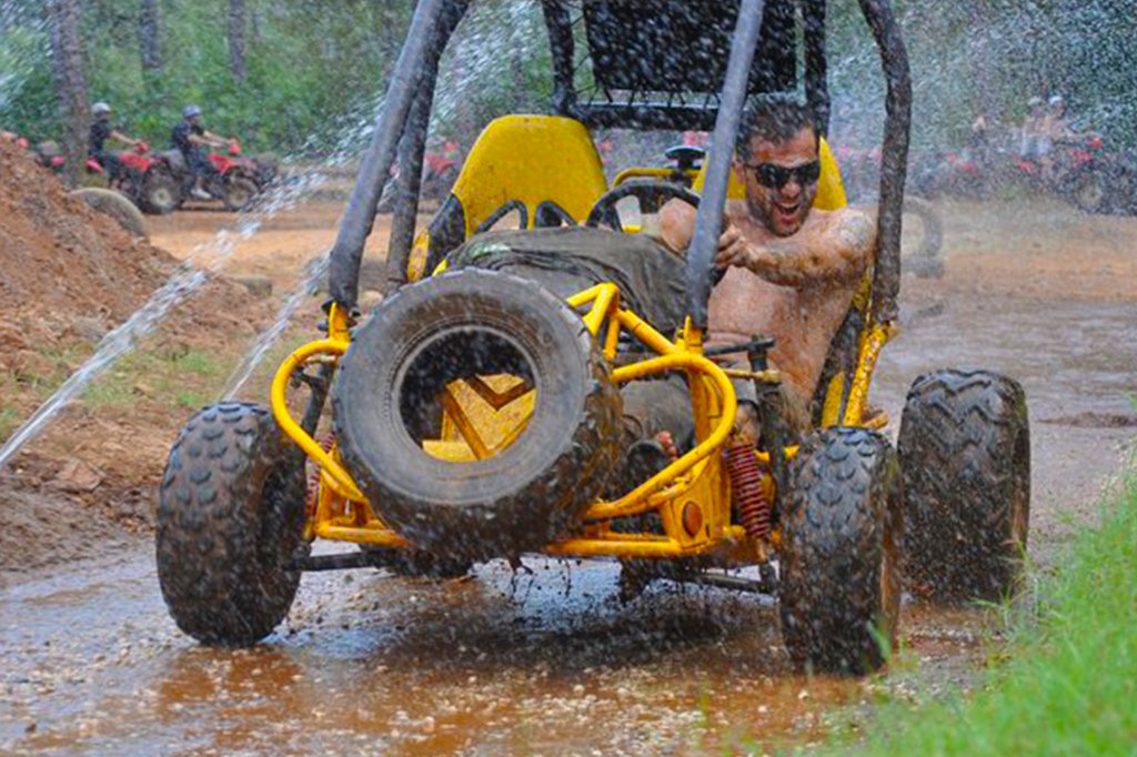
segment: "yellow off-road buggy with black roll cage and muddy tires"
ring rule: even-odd
[[[375,206],[396,160],[402,175],[421,175],[439,56],[467,7],[418,3],[332,251],[325,336],[284,360],[267,407],[207,407],[171,450],[158,576],[184,632],[205,643],[257,642],[288,614],[305,571],[460,575],[479,560],[517,564],[537,552],[619,560],[629,599],[656,579],[773,593],[796,665],[864,673],[895,641],[902,565],[922,594],[1014,589],[1030,480],[1022,389],[986,371],[929,373],[908,394],[898,449],[880,433],[887,416],[868,406],[880,350],[896,333],[911,101],[887,0],[862,2],[888,82],[879,249],[833,339],[807,432],[780,415],[770,340],[725,348],[748,353],[745,371],[721,367],[705,347],[723,206],[742,191],[731,151],[712,150],[690,188],[647,176],[612,189],[588,128],[713,128],[713,144],[733,144],[745,99],[795,91],[804,70],[823,133],[824,3],[656,0],[652,30],[637,23],[640,5],[542,5],[556,115],[492,122],[417,239],[417,197],[398,203],[388,260],[410,282],[360,322],[358,272]],[[573,31],[581,14],[587,36]],[[677,32],[661,47],[669,28]],[[588,82],[574,76],[582,39]],[[696,50],[705,65],[667,65]],[[816,205],[840,207],[836,161],[828,145],[821,153]],[[686,261],[622,225],[615,206],[625,198],[697,205]],[[483,233],[507,213],[521,218],[518,231]],[[542,246],[549,276],[487,263],[511,244]],[[587,256],[605,244],[665,255],[671,263],[659,265],[680,267],[666,278],[679,291],[628,268],[598,273],[579,291],[574,278],[557,278],[567,252],[556,246]],[[630,477],[621,388],[677,373],[694,440],[678,459]],[[757,441],[736,431],[732,378],[754,384]],[[351,549],[314,555],[316,539]],[[757,577],[722,571],[742,567]]]

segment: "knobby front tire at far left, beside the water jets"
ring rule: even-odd
[[[158,497],[158,581],[177,626],[251,644],[288,614],[300,573],[304,461],[267,409],[225,402],[190,419]]]

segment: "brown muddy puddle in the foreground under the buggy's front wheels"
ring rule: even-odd
[[[308,576],[281,633],[213,650],[166,619],[148,556],[7,593],[0,744],[19,752],[665,754],[821,738],[873,680],[787,665],[770,600],[657,584],[621,605],[609,564],[529,560],[434,583]],[[966,676],[978,614],[907,643]],[[18,621],[13,623],[13,621]],[[972,629],[961,631],[960,629]]]

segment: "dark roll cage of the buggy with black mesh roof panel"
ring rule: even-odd
[[[907,53],[889,0],[857,1],[880,51],[887,84],[877,221],[878,250],[872,299],[874,319],[878,323],[886,323],[896,315],[896,298],[899,292],[901,215],[907,164],[912,83]],[[331,301],[347,311],[352,310],[356,305],[364,244],[371,234],[379,199],[389,181],[396,159],[400,166],[400,186],[396,194],[388,260],[405,261],[409,255],[418,207],[417,184],[422,172],[439,60],[470,5],[471,0],[420,0],[415,8],[406,41],[388,84],[383,107],[375,122],[371,144],[364,153],[355,189],[331,252],[329,271]],[[628,8],[633,5],[621,3],[617,0],[541,0],[553,53],[555,113],[578,118],[590,126],[639,128],[713,126],[714,144],[733,145],[748,95],[796,89],[795,43],[792,35],[787,33],[785,17],[787,8],[798,7],[803,22],[806,99],[818,130],[821,133],[825,132],[829,117],[824,49],[825,0],[737,0],[733,3],[657,0],[653,5],[652,18],[680,18],[681,13],[694,14],[696,27],[702,28],[700,24],[705,26],[709,38],[714,34],[723,35],[722,39],[729,44],[729,56],[725,70],[719,73],[712,70],[703,78],[699,78],[699,74],[687,72],[672,75],[666,65],[667,60],[663,60],[663,65],[656,65],[654,68],[642,67],[654,72],[650,76],[657,77],[648,81],[629,78],[626,66],[621,67],[619,60],[613,63],[605,57],[605,50],[612,49],[609,44],[612,35],[621,33],[621,30],[629,35],[629,44],[633,50],[652,48],[642,39],[639,39],[641,47],[636,48],[636,40],[631,38],[642,32],[640,27],[657,33],[658,24],[633,25],[634,28],[604,26],[605,20],[626,20]],[[708,14],[715,8],[727,10],[717,17],[709,16]],[[578,66],[574,61],[573,25],[576,22],[572,20],[573,9],[580,9],[587,23],[597,25],[595,33],[591,26],[588,30],[595,80],[594,97],[588,101],[580,98],[575,82]],[[657,16],[656,11],[662,15]],[[723,18],[728,17],[733,18],[732,31],[724,26]],[[704,50],[704,57],[699,59],[700,65],[704,60],[713,61],[714,57],[707,57],[706,50],[713,52],[719,49],[714,39],[708,43],[703,39],[692,39],[689,28],[687,33],[686,38],[677,39],[677,43],[696,45],[692,49]],[[703,47],[698,48],[699,44]],[[789,50],[788,67],[785,49]],[[695,70],[706,67],[688,66],[688,68]],[[621,70],[623,75],[617,73]],[[721,81],[721,89],[709,89],[707,82],[714,81],[716,76]],[[613,94],[613,86],[631,88],[631,90],[621,91],[622,99],[617,99]],[[704,91],[679,91],[683,88],[702,88]],[[597,93],[601,97],[595,97]],[[713,150],[709,155],[703,202],[699,206],[695,235],[688,252],[687,310],[694,325],[699,327],[706,326],[712,266],[727,201],[731,158],[732,150],[729,149]]]

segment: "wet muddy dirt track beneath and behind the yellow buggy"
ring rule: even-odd
[[[895,433],[926,369],[1019,377],[1032,425],[1030,552],[1046,569],[1094,522],[1137,424],[1137,219],[1048,203],[943,209],[947,274],[905,280],[904,333],[873,401]],[[337,211],[317,206],[262,232],[235,269],[290,285],[331,240]],[[155,241],[183,255],[216,216],[163,219]],[[741,734],[770,747],[863,722],[881,691],[966,683],[982,659],[981,613],[908,604],[907,651],[889,676],[805,680],[788,669],[766,601],[658,584],[622,606],[609,564],[526,565],[445,583],[309,575],[280,634],[251,651],[176,632],[146,539],[7,574],[0,752],[674,754],[729,749]]]

